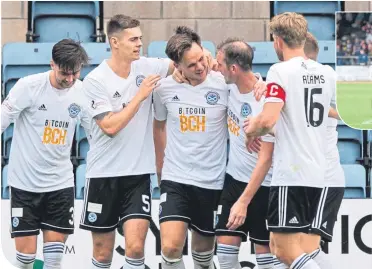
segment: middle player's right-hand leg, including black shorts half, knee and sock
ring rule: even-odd
[[[191,251],[194,268],[213,269],[217,207],[221,190],[191,186]]]

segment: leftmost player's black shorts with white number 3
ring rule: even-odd
[[[73,187],[51,192],[10,188],[11,237],[38,235],[41,230],[74,233]]]

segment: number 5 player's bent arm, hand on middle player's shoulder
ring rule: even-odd
[[[112,107],[104,88],[97,81],[84,80],[84,93],[90,103],[90,111],[97,125],[108,136],[114,137],[125,128],[137,113],[141,103],[158,86],[159,75],[146,77],[134,98],[120,112],[112,112]]]

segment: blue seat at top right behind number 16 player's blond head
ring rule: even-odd
[[[335,12],[341,11],[341,1],[275,1],[273,14],[297,12],[305,16],[309,31],[318,40],[334,40]]]

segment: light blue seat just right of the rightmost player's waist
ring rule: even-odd
[[[366,170],[360,164],[342,165],[345,173],[344,198],[366,198]]]

